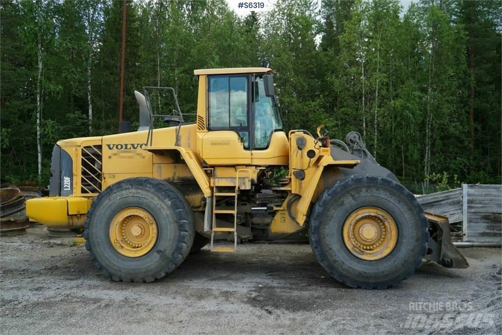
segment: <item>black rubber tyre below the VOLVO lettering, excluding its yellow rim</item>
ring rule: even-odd
[[[113,216],[128,207],[148,211],[157,223],[158,237],[143,256],[127,257],[112,246]],[[167,182],[130,178],[104,190],[92,203],[84,228],[85,247],[94,265],[115,281],[151,282],[173,271],[193,244],[193,215],[185,198]]]

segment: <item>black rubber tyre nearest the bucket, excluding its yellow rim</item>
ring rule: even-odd
[[[386,257],[364,260],[345,246],[343,224],[362,207],[389,213],[398,228],[398,241]],[[309,223],[315,257],[335,279],[351,287],[385,289],[408,278],[427,251],[427,220],[422,206],[402,185],[384,177],[356,175],[339,180],[317,200]]]

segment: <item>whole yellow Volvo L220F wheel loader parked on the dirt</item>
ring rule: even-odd
[[[115,281],[151,282],[192,251],[308,235],[321,266],[352,287],[387,288],[422,260],[465,268],[446,218],[369,154],[357,132],[286,131],[266,67],[195,70],[194,121],[136,91],[138,131],[58,141],[50,197],[27,202],[48,227],[83,231]],[[153,100],[153,99],[152,99]],[[308,117],[308,111],[305,111]],[[169,126],[156,128],[164,118]],[[158,119],[157,119],[158,121]]]

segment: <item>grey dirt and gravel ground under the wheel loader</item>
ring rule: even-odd
[[[103,277],[72,241],[43,226],[1,239],[3,334],[502,332],[500,248],[461,249],[466,270],[424,263],[398,287],[362,290],[329,277],[306,244],[205,247],[139,284]]]

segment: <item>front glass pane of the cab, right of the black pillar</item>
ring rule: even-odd
[[[263,77],[255,80],[255,148],[269,145],[274,130],[282,130],[283,122],[274,98],[265,95]]]

